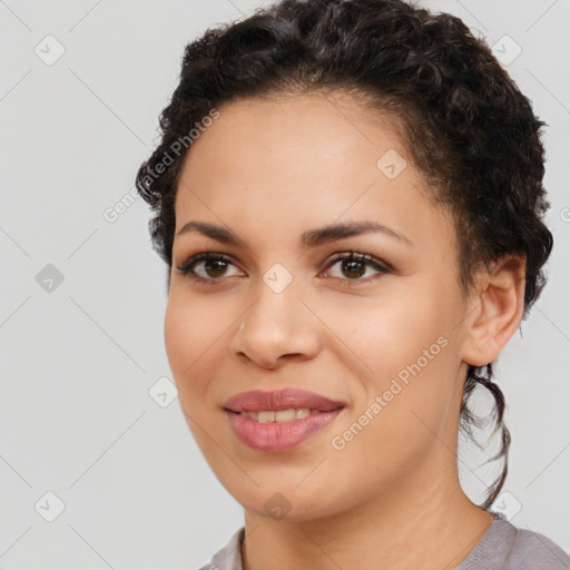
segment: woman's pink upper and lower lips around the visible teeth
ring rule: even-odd
[[[254,390],[230,397],[225,406],[238,440],[245,445],[264,452],[286,451],[307,440],[328,425],[343,410],[342,402],[304,390],[286,389],[274,392]],[[291,422],[259,423],[240,415],[242,411],[263,412],[308,407],[308,417]]]

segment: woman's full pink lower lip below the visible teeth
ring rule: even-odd
[[[295,448],[318,430],[328,425],[342,412],[342,407],[331,412],[311,414],[308,417],[291,422],[259,423],[236,412],[226,411],[238,440],[245,445],[265,452],[279,452]]]

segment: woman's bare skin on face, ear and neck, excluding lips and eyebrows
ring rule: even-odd
[[[348,96],[246,99],[219,111],[186,157],[176,232],[209,222],[247,246],[196,232],[176,236],[165,341],[191,433],[245,509],[244,568],[454,568],[492,522],[458,479],[466,365],[493,361],[518,328],[523,261],[498,261],[492,275],[482,269],[464,295],[450,216],[422,194],[397,129]],[[407,161],[394,179],[376,167],[390,149]],[[355,220],[382,223],[412,245],[381,233],[299,244],[307,229]],[[203,250],[233,259],[225,273],[208,274],[199,263],[209,283],[177,271]],[[358,277],[342,262],[330,265],[350,250],[392,272],[364,264]],[[275,263],[293,276],[281,293],[263,281]],[[439,354],[344,449],[334,449],[332,439],[439,337],[446,340]],[[293,450],[262,453],[242,444],[224,403],[244,391],[283,387],[345,409]],[[289,509],[281,519],[264,507],[277,492]]]

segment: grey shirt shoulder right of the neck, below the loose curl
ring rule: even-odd
[[[570,557],[549,538],[493,515],[493,524],[458,570],[570,570]]]

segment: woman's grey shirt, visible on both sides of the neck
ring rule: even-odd
[[[491,527],[455,570],[570,569],[570,557],[550,539],[513,527],[500,513],[493,515]],[[200,570],[243,570],[240,548],[244,534],[242,527]]]

